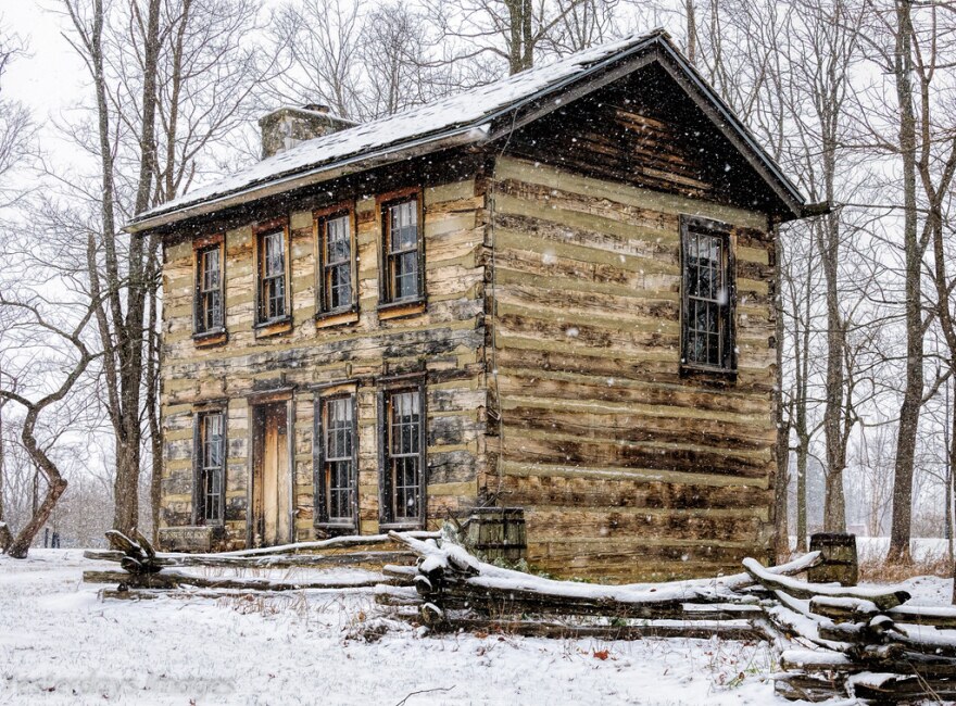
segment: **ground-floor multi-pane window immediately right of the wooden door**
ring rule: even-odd
[[[322,399],[316,418],[316,520],[355,524],[355,398]]]

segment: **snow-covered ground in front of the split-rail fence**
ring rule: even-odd
[[[85,568],[114,566],[75,550],[0,556],[0,704],[788,703],[766,643],[433,638],[401,623],[365,642],[358,628],[380,615],[367,591],[103,602]],[[908,588],[923,604],[951,591],[929,577]]]

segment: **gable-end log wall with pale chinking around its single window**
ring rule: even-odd
[[[680,193],[689,178],[668,193],[496,161],[488,355],[500,475],[487,490],[524,506],[529,560],[549,571],[713,575],[767,553],[772,241],[765,215]],[[679,374],[680,214],[733,226],[735,382]]]

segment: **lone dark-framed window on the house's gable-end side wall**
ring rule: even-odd
[[[681,364],[685,368],[733,371],[735,292],[729,226],[683,216],[681,264]]]

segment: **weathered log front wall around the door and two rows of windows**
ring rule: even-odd
[[[414,181],[402,186],[419,186]],[[335,187],[332,187],[335,188]],[[481,181],[466,178],[424,185],[427,310],[379,320],[381,218],[368,184],[356,202],[360,316],[353,324],[317,328],[312,209],[288,215],[291,226],[291,332],[256,338],[253,223],[226,232],[228,342],[199,348],[192,340],[192,242],[167,242],[164,252],[162,415],[164,436],[161,526],[189,525],[192,510],[194,405],[228,399],[226,527],[228,545],[246,540],[249,490],[248,395],[294,386],[295,535],[313,530],[313,403],[310,386],[358,380],[358,502],[361,531],[379,520],[376,380],[427,370],[427,517],[470,507],[483,467],[485,332]],[[328,187],[325,188],[327,190]],[[385,190],[382,187],[381,190]],[[329,193],[337,203],[342,193]],[[325,205],[314,203],[318,209]],[[264,217],[263,219],[266,219]]]

